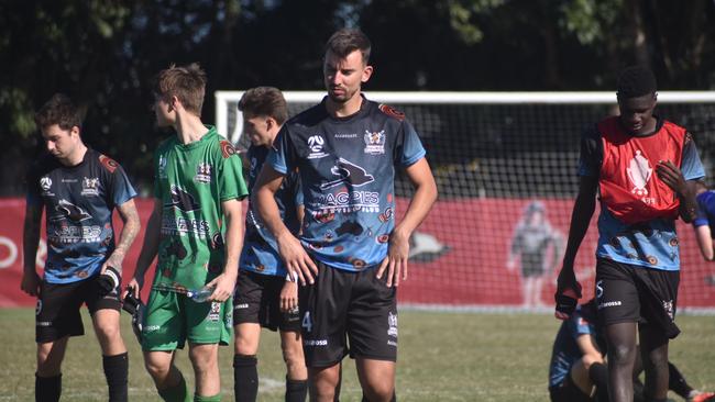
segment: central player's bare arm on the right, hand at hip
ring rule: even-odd
[[[405,217],[395,226],[389,235],[387,257],[377,269],[377,278],[387,271],[387,286],[399,286],[407,279],[407,259],[409,257],[409,237],[417,226],[422,223],[435,201],[437,201],[437,185],[427,159],[421,158],[405,169],[407,177],[415,186],[415,196],[407,208]]]

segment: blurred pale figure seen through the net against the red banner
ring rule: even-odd
[[[541,201],[532,201],[524,210],[512,236],[512,247],[506,263],[508,270],[516,268],[517,258],[521,263],[521,294],[524,306],[542,306],[541,288],[543,279],[554,271],[561,257],[563,237],[551,227]],[[547,255],[551,250],[551,258]]]

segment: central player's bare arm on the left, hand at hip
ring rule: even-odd
[[[278,253],[286,263],[288,272],[297,273],[301,284],[306,284],[306,281],[312,283],[314,277],[318,275],[318,267],[280,220],[278,204],[274,198],[284,176],[268,164],[264,165],[256,179],[251,202],[256,206],[261,219],[276,238]]]

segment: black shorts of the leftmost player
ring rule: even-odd
[[[98,310],[110,309],[121,311],[118,290],[102,295],[97,278],[91,278],[72,283],[40,284],[40,297],[35,311],[35,342],[48,343],[65,336],[85,335],[79,308],[87,304],[90,314]]]

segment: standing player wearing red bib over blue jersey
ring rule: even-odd
[[[601,200],[596,248],[598,320],[608,344],[608,392],[632,400],[636,337],[640,337],[646,395],[668,393],[668,342],[680,280],[675,220],[695,217],[693,180],[704,170],[685,129],[653,115],[656,78],[647,68],[626,68],[618,78],[620,115],[584,133],[579,194],[557,287],[557,316],[564,319],[581,294],[573,261]]]

